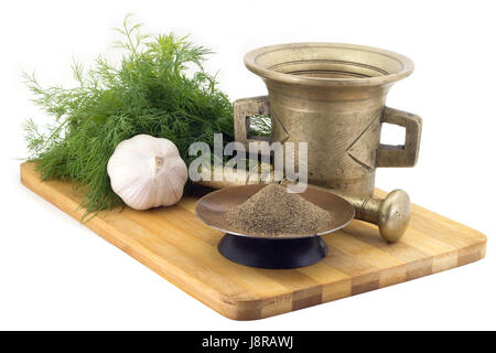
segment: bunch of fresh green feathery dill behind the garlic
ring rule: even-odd
[[[25,122],[29,159],[43,180],[77,182],[86,215],[122,205],[107,175],[120,141],[138,133],[166,138],[188,164],[192,142],[213,147],[214,132],[224,133],[225,143],[234,140],[233,106],[202,66],[209,50],[173,33],[143,35],[129,18],[117,31],[120,63],[99,56],[88,71],[75,63],[74,88],[44,88],[34,74],[24,75],[33,101],[53,118],[43,131]]]

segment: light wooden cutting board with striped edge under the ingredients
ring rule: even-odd
[[[32,163],[22,183],[77,221],[84,210],[69,183],[40,181]],[[385,195],[377,191],[378,195]],[[257,269],[230,263],[217,252],[223,234],[194,214],[197,197],[147,212],[101,212],[85,225],[109,243],[223,315],[267,318],[401,284],[476,261],[485,235],[413,205],[407,233],[387,244],[376,226],[353,221],[323,236],[330,255],[299,269]]]

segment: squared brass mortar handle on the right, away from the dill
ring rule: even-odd
[[[380,145],[377,167],[413,167],[417,164],[422,131],[422,118],[417,115],[386,107],[381,122],[406,128],[405,145]]]

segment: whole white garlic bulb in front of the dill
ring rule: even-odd
[[[187,168],[168,139],[137,135],[120,142],[107,163],[116,194],[134,210],[169,206],[179,202]]]

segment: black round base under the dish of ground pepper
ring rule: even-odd
[[[270,239],[226,234],[218,244],[218,252],[236,264],[283,269],[320,261],[327,256],[327,246],[320,236]]]

